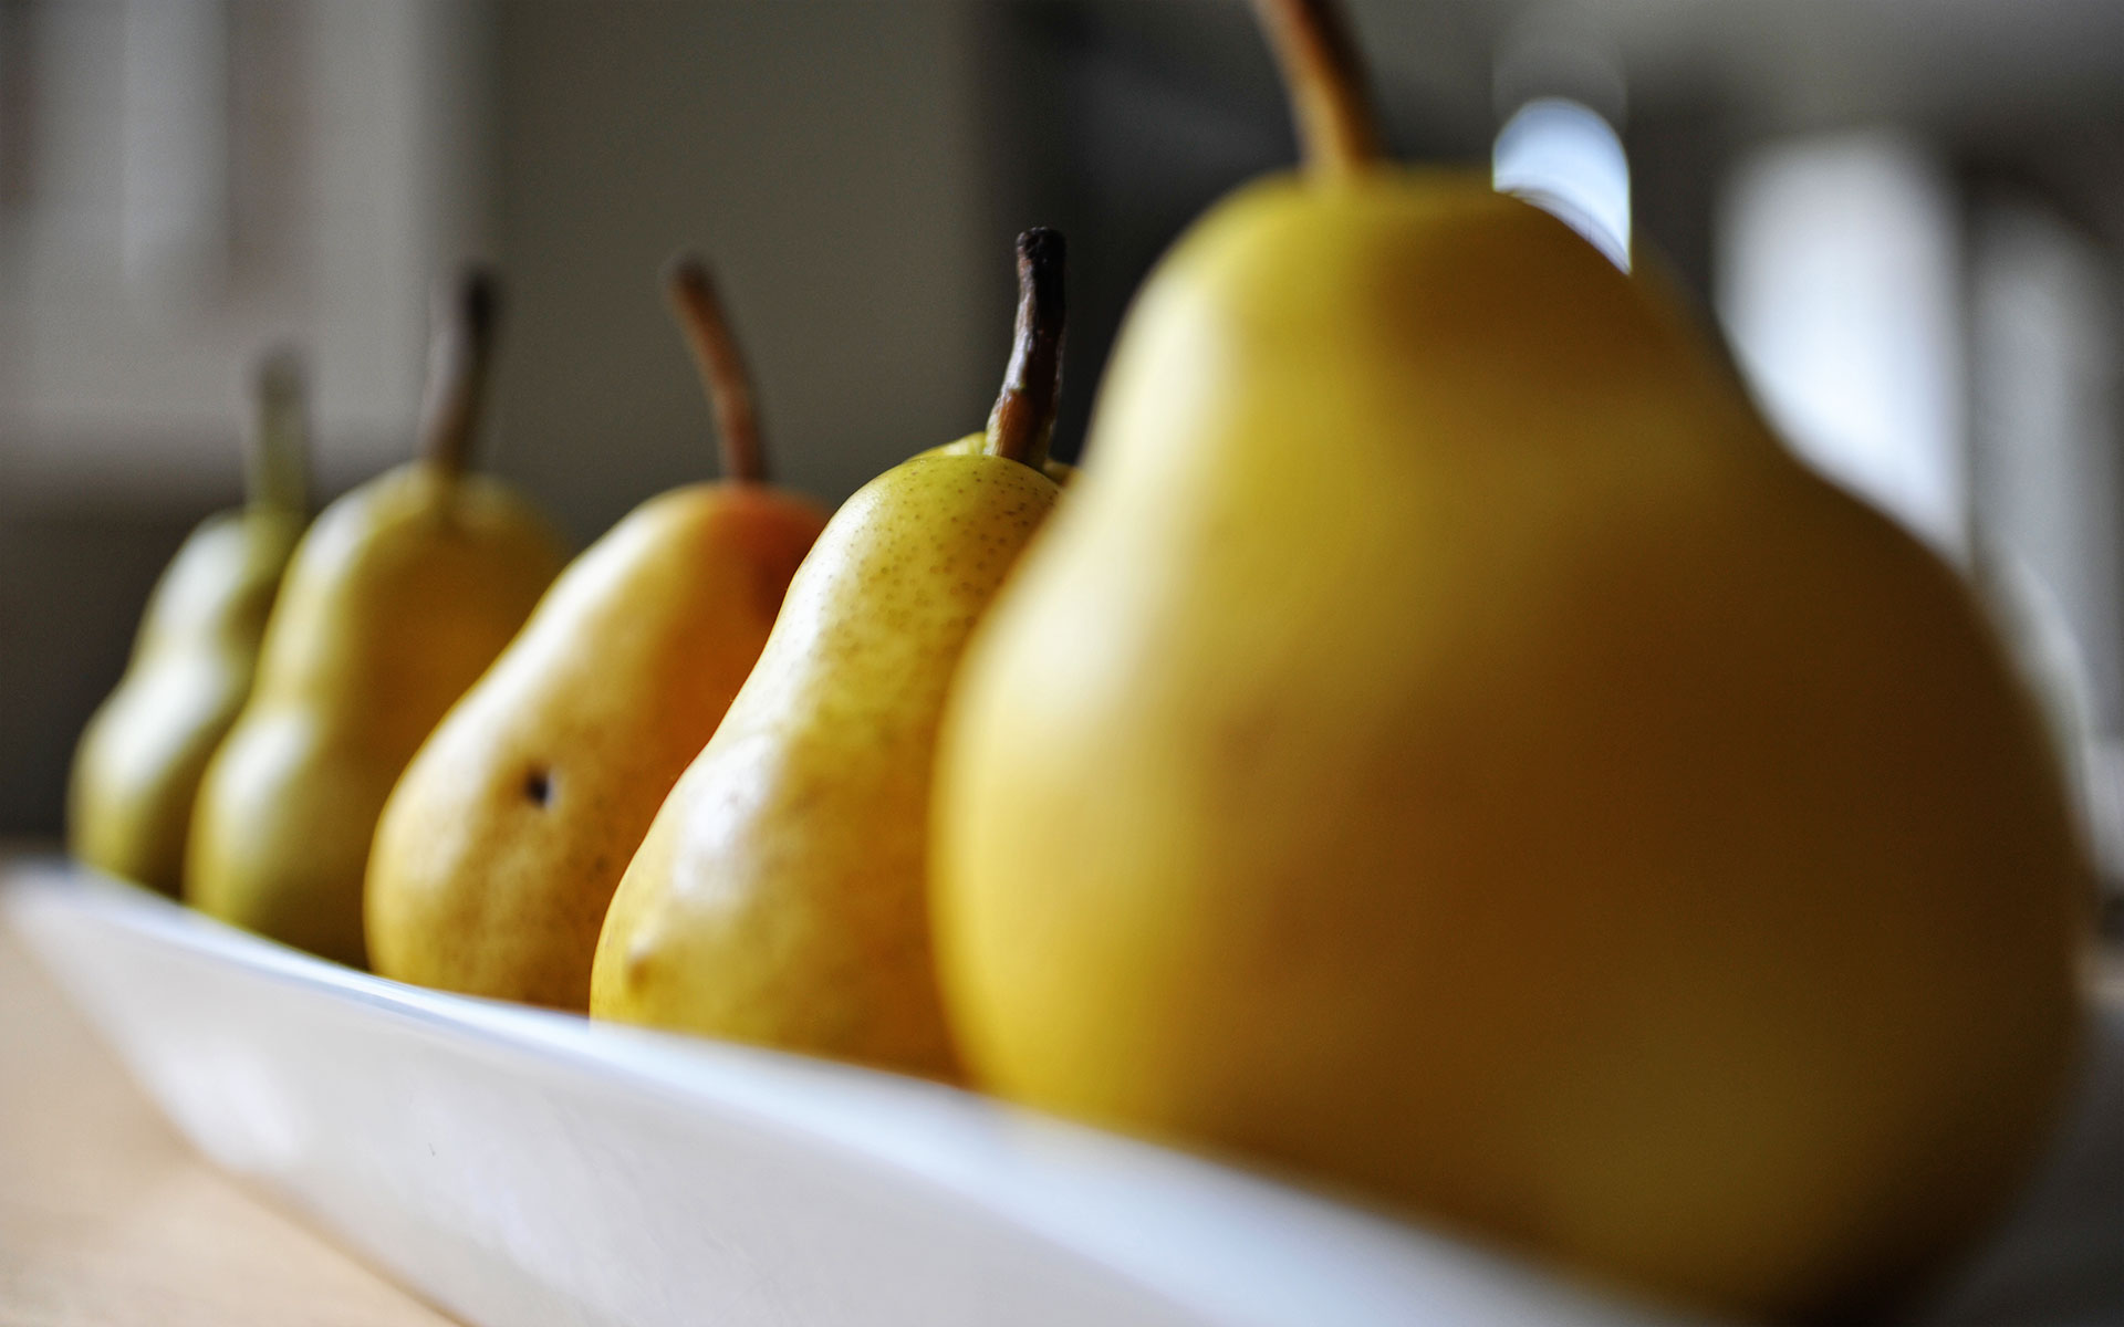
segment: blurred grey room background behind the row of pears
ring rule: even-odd
[[[1402,157],[1657,246],[1793,446],[1980,586],[2124,875],[2124,4],[1351,11]],[[238,501],[263,346],[331,497],[410,450],[429,282],[499,261],[486,454],[586,544],[714,469],[656,287],[701,246],[782,478],[837,501],[979,427],[1030,223],[1073,454],[1145,270],[1291,153],[1238,0],[0,0],[0,834],[59,830],[155,575]]]

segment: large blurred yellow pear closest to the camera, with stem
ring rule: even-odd
[[[1160,263],[969,648],[977,1081],[1744,1316],[1880,1321],[2020,1180],[2088,871],[1965,586],[1474,174],[1315,161]]]

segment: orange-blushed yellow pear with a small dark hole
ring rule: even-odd
[[[370,854],[384,977],[588,1009],[612,890],[775,624],[826,512],[765,482],[752,389],[707,270],[673,268],[722,423],[722,484],[593,544],[391,792]]]

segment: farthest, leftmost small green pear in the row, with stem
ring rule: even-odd
[[[66,794],[79,860],[172,896],[200,777],[251,694],[266,614],[310,520],[302,365],[270,355],[255,393],[249,501],[200,522],[155,582],[125,677],[81,733]]]

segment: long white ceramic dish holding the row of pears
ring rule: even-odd
[[[55,860],[0,883],[200,1151],[480,1327],[1672,1321],[973,1093],[382,981]],[[2124,1193],[2077,1178],[2124,1185],[2107,1125],[1935,1321],[2124,1321]]]

